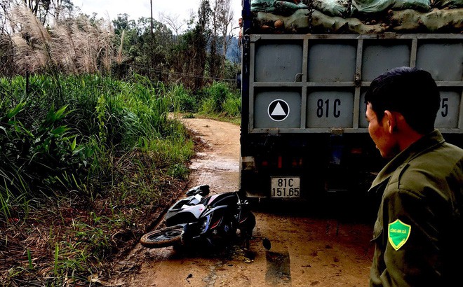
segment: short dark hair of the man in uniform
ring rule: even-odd
[[[434,130],[440,101],[431,73],[408,66],[378,76],[365,94],[365,103],[371,104],[378,120],[382,120],[384,111],[396,111],[420,134]]]

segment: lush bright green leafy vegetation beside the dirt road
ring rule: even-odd
[[[115,183],[114,158],[135,149],[163,153],[159,165],[178,169],[192,156],[187,132],[168,119],[163,85],[136,80],[33,76],[26,92],[24,78],[2,79],[0,190],[37,196],[80,189],[93,198],[102,183]]]

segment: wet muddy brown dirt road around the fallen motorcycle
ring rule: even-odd
[[[183,119],[205,148],[192,162],[191,186],[212,193],[238,188],[239,126]],[[347,197],[320,202],[261,202],[250,248],[236,242],[224,251],[176,251],[137,246],[138,271],[117,286],[368,286],[373,219]],[[161,223],[162,225],[162,223]],[[262,239],[271,248],[262,246]],[[123,264],[124,262],[121,262]]]

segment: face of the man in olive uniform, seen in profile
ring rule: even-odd
[[[383,117],[381,121],[378,121],[370,103],[367,105],[365,116],[368,121],[368,132],[375,142],[376,148],[380,150],[381,156],[383,158],[393,158],[396,152],[396,141],[393,134],[389,132],[387,118]]]

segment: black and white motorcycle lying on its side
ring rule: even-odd
[[[246,248],[249,248],[255,216],[250,211],[248,202],[241,200],[236,191],[210,196],[208,194],[207,185],[188,190],[187,197],[178,200],[168,209],[165,216],[166,228],[143,235],[140,239],[142,246],[220,246],[229,244],[239,230]]]

